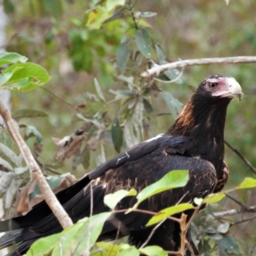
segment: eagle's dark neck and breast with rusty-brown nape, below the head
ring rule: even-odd
[[[214,164],[217,175],[221,172],[224,158],[224,128],[230,99],[193,97],[184,106],[168,135],[189,136],[187,156],[200,157]]]

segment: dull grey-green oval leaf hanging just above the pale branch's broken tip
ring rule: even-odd
[[[139,29],[136,32],[136,44],[143,56],[146,58],[151,57],[151,42],[150,42],[150,36],[148,35],[148,32],[146,29]]]

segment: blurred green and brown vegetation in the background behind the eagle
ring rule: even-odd
[[[53,168],[60,173],[70,172],[79,178],[105,159],[115,156],[116,151],[166,131],[181,107],[179,102],[186,103],[200,81],[212,73],[233,76],[243,88],[243,100],[234,100],[228,107],[225,138],[256,166],[255,64],[189,67],[185,68],[178,83],[142,81],[139,76],[148,68],[148,61],[145,58],[147,52],[143,53],[138,43],[140,35],[147,41],[144,32],[138,35],[138,29],[147,28],[151,44],[148,52],[157,63],[179,58],[253,56],[256,49],[253,21],[256,3],[230,1],[227,6],[225,1],[137,1],[131,8],[134,2],[127,1],[126,9],[115,16],[118,19],[102,24],[112,19],[113,8],[104,5],[105,9],[90,11],[96,2],[4,1],[8,13],[6,50],[27,56],[29,61],[42,65],[52,77],[43,88],[26,93],[12,92],[13,115],[17,115],[20,125],[35,127],[27,127],[29,130],[26,131],[24,129],[24,136],[28,138],[45,173],[52,175],[49,168]],[[115,1],[106,2],[115,7]],[[143,16],[138,12],[151,14]],[[140,18],[136,19],[136,25],[132,19],[134,16]],[[124,44],[120,46],[121,43]],[[159,45],[158,50],[156,45]],[[122,66],[122,61],[118,63],[118,56],[127,56],[127,65]],[[180,71],[177,72],[179,74]],[[167,75],[173,78],[177,74],[171,72]],[[133,82],[129,77],[133,77]],[[167,76],[167,79],[170,77]],[[164,99],[167,102],[172,100],[172,104],[166,104]],[[173,99],[179,99],[179,102]],[[47,116],[43,117],[41,113],[33,119],[24,118],[29,114],[20,114],[17,112],[20,109],[37,109]],[[77,113],[82,116],[77,117]],[[172,115],[163,115],[166,113]],[[86,118],[87,121],[94,120],[92,127],[84,126]],[[135,124],[133,129],[132,124]],[[63,153],[56,143],[65,145],[67,141],[68,146],[70,137],[64,142],[54,140],[55,144],[50,138],[63,138],[77,130],[82,131],[82,144],[79,144],[79,151],[68,147],[71,152],[68,159],[67,152],[64,150]],[[131,134],[129,131],[132,131]],[[14,145],[5,135],[3,131],[3,142],[15,151]],[[34,137],[30,138],[31,135]],[[125,139],[120,143],[122,135]],[[73,134],[72,139],[77,136],[79,132]],[[225,161],[230,168],[226,188],[233,188],[244,177],[255,175],[230,148],[226,148]],[[23,174],[20,187],[28,179],[26,172]],[[74,177],[70,175],[68,179],[61,177],[56,183],[52,181],[52,188],[60,189],[63,180],[68,185],[70,180],[74,181]],[[245,205],[255,205],[253,192],[253,189],[239,190],[231,195]],[[34,197],[29,196],[30,199]],[[231,234],[234,238],[232,243],[238,244],[239,250],[218,250],[220,255],[253,255],[255,222],[236,223],[253,215],[246,212],[212,221],[212,211],[239,207],[241,205],[237,205],[234,200],[224,198],[220,204],[211,205],[196,216],[195,234],[200,241],[201,252],[216,255],[216,246],[221,246],[223,236]],[[15,211],[17,214],[17,207]],[[10,216],[13,211],[7,211],[6,214]],[[236,224],[220,232],[218,227],[226,222]],[[227,241],[225,243],[228,244]]]

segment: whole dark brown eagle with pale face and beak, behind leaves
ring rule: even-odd
[[[189,170],[189,181],[184,188],[159,193],[140,204],[141,209],[160,211],[181,202],[193,202],[193,198],[204,198],[212,192],[220,191],[228,179],[227,164],[223,162],[223,132],[227,106],[234,97],[241,98],[241,87],[232,77],[211,75],[198,86],[188,104],[170,129],[163,135],[136,145],[126,152],[97,167],[76,184],[57,194],[58,200],[76,223],[90,215],[90,183],[93,191],[93,214],[109,211],[104,205],[104,195],[118,189],[135,188],[138,191],[161,179],[172,170]],[[118,205],[126,209],[136,202],[130,196]],[[188,218],[193,212],[187,211]],[[179,214],[177,214],[179,217]],[[150,216],[131,212],[115,214],[121,221],[120,237],[129,236],[129,243],[140,246],[152,228],[145,228]],[[0,248],[20,243],[10,255],[25,253],[36,239],[61,231],[60,224],[49,207],[42,202],[26,216],[2,221],[0,231],[12,227],[12,236],[1,237]],[[179,224],[170,220],[157,228],[148,244],[157,244],[165,250],[179,250]],[[115,239],[116,225],[107,221],[99,240]],[[195,255],[198,255],[190,232],[187,240]],[[191,252],[186,248],[186,256]]]

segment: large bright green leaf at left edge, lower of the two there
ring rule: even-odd
[[[35,63],[18,63],[0,74],[1,89],[28,91],[47,83],[51,77]]]

